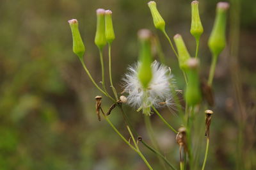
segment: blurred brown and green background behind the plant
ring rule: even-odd
[[[202,79],[207,79],[209,72],[211,54],[207,39],[217,2],[200,0],[205,29],[199,53]],[[194,54],[195,40],[189,33],[190,3],[189,0],[157,1],[168,34],[180,33]],[[214,78],[216,106],[206,169],[256,169],[256,1],[230,0],[230,4],[228,45],[220,56]],[[159,36],[177,86],[184,88],[177,60],[166,39],[154,28],[145,0],[1,0],[1,170],[147,169],[141,158],[124,144],[106,121],[97,120],[94,97],[102,94],[90,82],[77,56],[72,53],[67,20],[76,18],[86,45],[86,65],[99,82],[99,53],[93,43],[97,8],[113,11],[116,33],[113,82],[118,93],[122,91],[120,84],[127,66],[137,61],[137,31],[141,28],[148,28]],[[107,52],[105,49],[105,61]],[[156,59],[159,59],[157,55]],[[105,110],[111,105],[107,98],[102,102]],[[148,140],[143,115],[127,105],[124,109],[136,130]],[[162,109],[161,113],[174,127],[180,126],[175,112]],[[109,118],[128,139],[118,109]],[[197,123],[204,128],[204,121]],[[179,148],[175,135],[154,115],[152,124],[161,151],[178,166]],[[201,141],[199,165],[204,157],[204,137]],[[155,155],[143,146],[141,150],[154,169],[163,169]]]

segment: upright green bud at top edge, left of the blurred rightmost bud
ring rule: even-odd
[[[193,1],[191,3],[191,28],[190,33],[193,35],[196,40],[199,40],[202,33],[204,33],[204,28],[202,26],[199,10],[198,10],[198,1]]]

